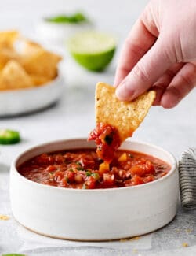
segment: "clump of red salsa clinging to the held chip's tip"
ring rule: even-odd
[[[114,152],[120,147],[121,141],[118,130],[109,124],[98,123],[90,132],[88,140],[96,143],[96,154],[103,161],[110,163],[114,158]]]

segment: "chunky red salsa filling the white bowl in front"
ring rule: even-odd
[[[170,169],[165,161],[128,150],[117,150],[110,163],[103,162],[92,149],[41,154],[18,167],[21,175],[40,184],[82,189],[145,184]]]

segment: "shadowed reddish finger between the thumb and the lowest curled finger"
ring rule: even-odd
[[[152,90],[156,91],[156,98],[154,99],[153,105],[159,106],[161,102],[162,95],[165,89],[169,86],[176,73],[180,71],[184,63],[176,63],[172,65],[170,69],[167,69],[166,72],[161,76],[157,82],[154,83]]]

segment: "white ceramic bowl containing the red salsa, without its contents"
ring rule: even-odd
[[[147,143],[125,141],[122,149],[140,151],[172,166],[159,180],[135,187],[78,190],[27,180],[16,167],[44,152],[94,148],[86,139],[42,144],[12,163],[10,197],[13,216],[31,231],[60,239],[107,240],[140,236],[162,228],[176,215],[179,180],[172,154]]]

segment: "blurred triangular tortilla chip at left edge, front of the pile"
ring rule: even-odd
[[[32,87],[31,77],[16,61],[8,61],[0,74],[0,90]]]

